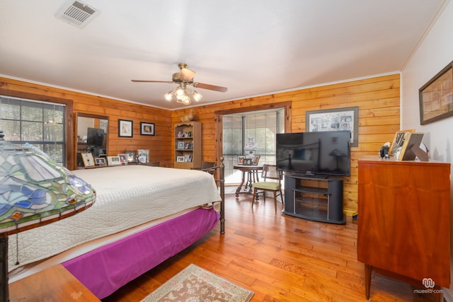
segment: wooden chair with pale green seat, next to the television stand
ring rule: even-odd
[[[277,170],[276,165],[263,165],[263,171],[261,174],[262,181],[254,182],[253,187],[253,196],[252,196],[252,208],[257,197],[258,190],[263,191],[263,199],[266,201],[266,192],[274,193],[274,203],[275,203],[275,213],[277,213],[277,193],[280,194],[280,198],[283,203],[283,193],[282,193],[282,171]]]

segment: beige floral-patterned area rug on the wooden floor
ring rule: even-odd
[[[201,267],[189,265],[141,302],[248,302],[253,294]]]

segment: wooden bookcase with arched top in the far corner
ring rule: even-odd
[[[200,122],[185,122],[175,125],[175,158],[173,165],[175,168],[190,169],[201,167],[201,128],[202,124]]]

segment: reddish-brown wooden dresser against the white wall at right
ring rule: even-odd
[[[420,289],[450,285],[450,164],[358,162],[357,259],[365,263],[365,295],[372,271]],[[427,284],[429,278],[434,282]],[[442,299],[442,294],[437,294]]]

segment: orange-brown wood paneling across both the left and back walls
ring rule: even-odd
[[[40,100],[47,97],[64,98],[73,101],[73,118],[76,112],[108,115],[108,155],[116,155],[125,150],[149,149],[151,161],[160,161],[161,165],[173,165],[173,124],[180,122],[180,117],[187,115],[190,109],[162,110],[144,105],[126,103],[120,100],[103,98],[86,93],[67,91],[59,88],[42,86],[35,83],[16,81],[0,77],[0,94],[7,95],[30,93],[40,95]],[[248,108],[275,103],[291,102],[292,114],[289,117],[290,128],[287,132],[305,131],[307,110],[359,107],[359,145],[352,147],[351,176],[343,178],[344,209],[347,214],[357,211],[357,159],[364,155],[378,156],[379,148],[386,141],[392,141],[400,125],[400,76],[391,74],[369,79],[336,83],[332,85],[306,88],[297,91],[262,95],[254,98],[232,100],[213,105],[193,108],[195,120],[202,122],[203,160],[217,161],[216,112],[225,110],[248,110]],[[132,120],[134,134],[132,138],[118,137],[118,120]],[[154,137],[140,135],[140,122],[154,122]],[[75,132],[72,133],[75,135]],[[74,137],[73,137],[74,139]],[[75,150],[75,146],[74,150]]]

